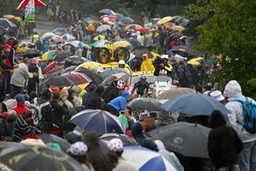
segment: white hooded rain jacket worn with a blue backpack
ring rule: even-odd
[[[241,86],[237,81],[230,81],[227,83],[224,95],[228,97],[229,102],[226,104],[226,108],[230,110],[228,114],[228,119],[230,125],[237,131],[239,137],[244,143],[250,141],[256,141],[256,134],[251,134],[246,131],[243,127],[243,113],[242,113],[242,103],[233,100],[242,100],[245,101],[246,97],[242,95]],[[256,102],[249,98],[250,101]]]

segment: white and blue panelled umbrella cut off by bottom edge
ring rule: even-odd
[[[162,157],[159,153],[141,146],[125,146],[122,157],[128,161],[132,161],[140,171],[177,170],[173,165],[170,164],[169,161],[166,161],[165,157]]]

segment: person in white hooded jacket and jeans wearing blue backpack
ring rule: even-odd
[[[241,86],[237,81],[230,81],[224,91],[224,96],[228,97],[226,108],[230,110],[228,119],[230,125],[237,131],[243,141],[242,152],[238,156],[238,165],[241,171],[256,170],[256,134],[248,133],[243,126],[243,108],[242,103],[234,100],[246,101],[242,95]],[[249,98],[250,101],[256,102]]]

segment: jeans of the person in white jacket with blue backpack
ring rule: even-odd
[[[238,155],[238,165],[241,171],[256,170],[256,141],[243,144],[242,152]]]

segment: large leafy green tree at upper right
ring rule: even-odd
[[[186,17],[198,24],[198,49],[223,57],[215,74],[222,85],[236,79],[246,89],[256,75],[255,9],[256,1],[248,0],[198,0],[186,6]]]

